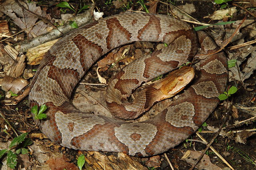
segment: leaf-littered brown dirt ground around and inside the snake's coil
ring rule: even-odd
[[[8,1],[17,5],[17,2],[12,0],[0,0],[0,8]],[[68,3],[74,7],[74,11],[76,12],[69,8],[56,7],[56,4],[59,2],[62,1],[30,0],[27,2],[27,4],[33,4],[33,8],[40,8],[40,10],[43,11],[37,13],[38,11],[35,10],[37,11],[36,14],[39,16],[41,15],[42,17],[34,19],[34,23],[44,18],[51,20],[54,23],[53,25],[62,25],[60,14],[73,15],[74,13],[78,13],[79,9],[84,4],[90,5],[90,9],[88,10],[94,8],[96,11],[99,10],[100,12],[104,12],[103,17],[120,14],[127,10],[136,12],[145,11],[145,8],[143,8],[137,0],[96,0],[94,1],[94,5],[92,4],[92,1],[70,0]],[[147,3],[145,1],[145,5],[150,12],[164,15],[168,14],[184,20],[197,20],[197,23],[193,23],[194,27],[200,26],[199,21],[210,24],[236,21],[232,24],[214,25],[213,27],[206,27],[203,29],[205,32],[209,33],[220,46],[224,44],[222,43],[224,40],[235,32],[236,26],[243,20],[243,18],[245,16],[247,17],[239,30],[239,35],[233,37],[232,41],[223,49],[228,60],[233,59],[237,61],[234,67],[229,70],[228,88],[236,86],[238,91],[235,94],[232,94],[228,98],[228,101],[225,100],[220,103],[206,120],[206,126],[202,126],[202,131],[198,132],[198,134],[208,143],[211,140],[214,140],[214,142],[211,145],[212,148],[206,151],[203,160],[198,163],[196,168],[212,170],[228,170],[232,168],[238,170],[256,169],[256,72],[254,71],[256,68],[256,1],[244,0],[244,3],[237,3],[238,1],[232,0],[228,2],[228,6],[223,9],[226,10],[224,12],[220,12],[220,10],[222,10],[220,7],[225,5],[225,3],[216,4],[214,3],[214,0],[168,0],[158,3],[156,2],[158,1],[150,0]],[[156,6],[154,6],[155,3]],[[78,10],[76,10],[76,7]],[[177,8],[185,11],[194,19],[187,17],[186,14],[177,10]],[[18,51],[19,44],[24,43],[27,39],[31,40],[34,37],[39,36],[42,27],[44,27],[44,25],[41,25],[40,29],[34,33],[32,33],[31,30],[22,31],[24,30],[22,24],[17,25],[17,23],[19,23],[18,20],[22,21],[22,18],[24,18],[25,15],[22,16],[22,14],[25,14],[25,10],[22,10],[23,13],[21,12],[21,14],[18,14],[14,8],[12,10],[17,14],[16,18],[12,15],[13,13],[11,14],[10,12],[8,13],[0,9],[0,29],[2,28],[2,30],[0,30],[2,31],[0,32],[0,82],[2,82],[2,87],[4,84],[3,78],[6,75],[10,75],[10,69],[14,69],[12,67],[13,63],[18,63],[17,53],[12,52],[12,54],[16,54],[14,59],[12,59],[10,53],[6,52],[6,46],[10,46],[10,49],[13,47]],[[81,11],[81,13],[84,12],[86,12],[86,10]],[[44,13],[45,16],[43,16]],[[92,12],[89,12],[89,14],[92,14]],[[218,17],[221,17],[221,19],[216,19]],[[53,28],[46,20],[43,20],[42,23],[45,23],[46,25],[45,33],[50,31],[48,28]],[[33,26],[33,24],[31,24],[31,26]],[[5,34],[6,36],[3,36],[4,27],[8,27],[7,29],[9,29],[9,33]],[[14,35],[16,33],[17,35]],[[10,35],[14,36],[6,39]],[[241,45],[246,42],[252,43],[238,48],[234,47],[235,45]],[[132,54],[137,54],[135,56],[136,58],[142,54],[154,51],[157,46],[158,44],[156,43],[133,43],[111,51],[104,56],[106,58],[105,60],[103,59],[104,57],[102,57],[102,60],[94,65],[88,71],[84,80],[82,80],[82,82],[87,84],[79,84],[76,88],[72,97],[73,104],[81,110],[86,110],[86,108],[91,107],[87,105],[84,106],[84,101],[94,100],[93,102],[99,102],[104,100],[106,86],[102,86],[97,76],[97,67],[99,65],[102,66],[100,75],[108,82],[120,68],[134,60],[135,55]],[[232,49],[232,47],[234,47],[234,49]],[[129,49],[129,53],[126,55],[126,59],[113,59],[117,55],[121,55],[123,50],[127,48]],[[8,61],[6,57],[7,55],[10,58],[10,61]],[[24,51],[24,55],[28,55],[28,53]],[[32,76],[34,75],[32,69],[38,68],[38,65],[36,65],[38,61],[40,61],[40,59],[28,59],[28,56],[25,58],[25,64],[20,71],[20,77],[27,79],[28,83],[32,80]],[[112,69],[109,69],[112,63],[116,63],[116,65],[114,65]],[[100,85],[96,86],[93,84]],[[12,86],[17,85],[12,84]],[[26,90],[22,92],[25,93],[25,91]],[[22,92],[18,92],[18,94],[22,96]],[[40,132],[38,127],[36,127],[36,123],[34,123],[32,116],[30,115],[28,96],[24,95],[24,99],[19,99],[19,102],[15,103],[14,99],[17,100],[17,98],[16,96],[11,96],[10,92],[6,93],[1,90],[0,95],[2,96],[0,102],[0,150],[8,148],[10,142],[16,137],[15,132],[17,132],[17,135],[28,132],[27,137],[31,138],[33,141],[29,146],[24,147],[24,149],[28,149],[28,153],[18,154],[16,169],[78,169],[77,159],[78,156],[83,153],[85,155],[85,165],[83,168],[85,169],[169,170],[172,169],[168,163],[168,161],[170,161],[174,169],[187,170],[195,163],[195,160],[200,155],[200,151],[203,151],[206,148],[204,143],[198,142],[202,141],[199,135],[194,133],[189,138],[192,140],[180,143],[180,145],[174,149],[170,149],[166,152],[166,155],[160,154],[158,156],[146,158],[127,156],[122,153],[86,152],[68,149],[61,147],[56,143],[52,143]],[[166,103],[168,102],[170,101],[166,101]],[[159,106],[161,105],[156,105],[152,109],[158,110],[156,107]],[[89,109],[89,111],[95,113],[96,109],[102,108]],[[148,114],[150,115],[152,112],[154,111],[151,111]],[[224,122],[224,126],[220,131],[220,134],[214,139],[214,136],[222,125],[225,117],[227,119]],[[22,146],[18,145],[14,150],[17,150],[18,148],[22,148]],[[185,153],[190,153],[190,155],[184,158],[183,156]],[[218,154],[220,154],[220,156]],[[166,157],[168,157],[168,159],[166,159]],[[6,159],[7,154],[4,154],[2,158],[0,158],[1,169],[10,169],[6,166]],[[225,161],[228,162],[229,165],[226,164]]]

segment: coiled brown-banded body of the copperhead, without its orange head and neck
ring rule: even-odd
[[[128,123],[83,113],[70,104],[76,84],[99,57],[134,41],[171,45],[136,61],[115,76],[108,87],[110,98],[106,102],[111,109],[121,112],[132,112],[130,107],[120,105],[120,101],[130,95],[134,86],[192,59],[198,50],[197,42],[202,54],[218,49],[206,33],[196,35],[187,23],[164,15],[119,14],[72,31],[46,53],[31,84],[30,107],[48,106],[47,119],[39,121],[38,126],[49,139],[72,149],[150,156],[187,139],[214,111],[219,103],[217,96],[224,92],[227,83],[224,53],[201,60],[198,78],[192,85],[167,109],[146,121]]]

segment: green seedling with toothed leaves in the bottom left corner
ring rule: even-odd
[[[7,166],[14,169],[15,166],[17,165],[17,155],[22,153],[22,154],[27,154],[28,150],[25,148],[29,145],[32,144],[32,141],[30,138],[26,138],[26,135],[28,133],[23,133],[19,135],[18,137],[15,137],[12,142],[10,143],[10,146],[8,149],[3,149],[0,150],[0,158],[7,153]],[[25,139],[26,138],[26,139]],[[21,144],[21,145],[19,145]],[[18,148],[15,152],[12,152],[12,149]]]

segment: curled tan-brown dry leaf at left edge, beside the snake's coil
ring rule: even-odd
[[[5,76],[2,81],[2,90],[12,91],[17,94],[20,90],[28,85],[28,81],[23,78],[14,78],[11,76]]]

